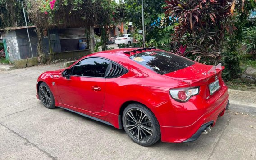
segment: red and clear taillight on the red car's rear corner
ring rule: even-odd
[[[197,95],[198,93],[199,93],[199,87],[170,90],[170,95],[174,100],[178,102],[187,102],[190,99],[190,97]]]

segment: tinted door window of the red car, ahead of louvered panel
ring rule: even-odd
[[[86,58],[73,66],[74,76],[105,77],[110,61],[102,58]]]

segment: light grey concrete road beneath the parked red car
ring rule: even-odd
[[[142,147],[124,130],[62,108],[47,109],[37,100],[35,66],[0,71],[0,159],[168,159],[255,160],[256,116],[227,111],[212,132],[190,143]],[[232,106],[231,106],[232,108]]]

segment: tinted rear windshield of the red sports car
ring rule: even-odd
[[[162,51],[142,52],[130,56],[130,59],[158,74],[174,72],[195,63],[182,56]]]

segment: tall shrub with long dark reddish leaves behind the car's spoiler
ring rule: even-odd
[[[165,14],[176,17],[178,25],[171,35],[178,47],[187,45],[187,56],[196,61],[216,65],[221,60],[220,52],[225,30],[230,34],[235,29],[229,24],[233,0],[167,0]],[[192,54],[192,55],[191,55]]]

